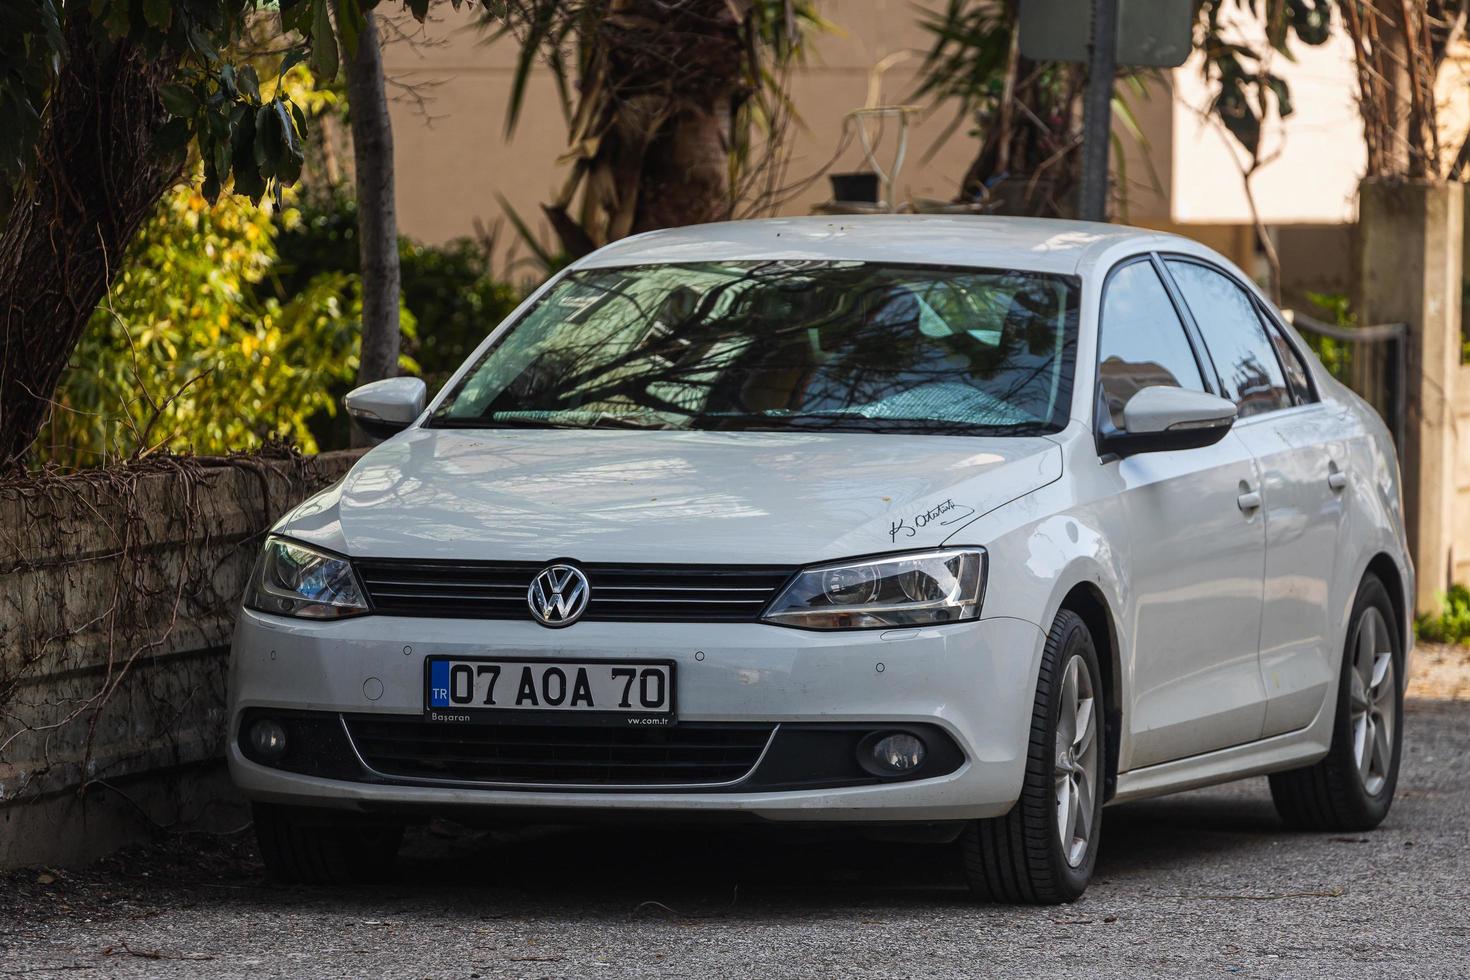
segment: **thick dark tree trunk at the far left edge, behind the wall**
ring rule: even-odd
[[[0,467],[24,461],[123,250],[179,175],[153,147],[168,59],[90,35],[85,4],[69,4],[35,181],[0,232]]]

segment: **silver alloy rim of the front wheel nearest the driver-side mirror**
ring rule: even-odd
[[[1082,657],[1072,657],[1061,674],[1057,755],[1053,768],[1057,796],[1057,839],[1067,864],[1078,867],[1092,837],[1098,785],[1098,720],[1092,674]]]

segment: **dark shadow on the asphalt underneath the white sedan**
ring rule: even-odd
[[[1258,785],[1113,807],[1098,876],[1126,879],[1288,835]],[[650,912],[717,914],[753,902],[832,908],[966,901],[957,845],[894,843],[844,830],[567,827],[514,833],[435,824],[410,832],[401,898],[445,890],[478,905],[510,901],[584,914],[629,904]],[[467,895],[466,895],[467,893]]]

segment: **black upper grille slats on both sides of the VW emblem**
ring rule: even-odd
[[[357,574],[384,616],[529,620],[526,591],[545,567],[531,561],[359,558]],[[591,585],[584,620],[748,623],[794,569],[784,566],[582,564]]]

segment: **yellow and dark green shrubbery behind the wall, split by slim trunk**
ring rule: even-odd
[[[484,250],[400,239],[403,363],[442,383],[517,303]],[[94,466],[153,448],[218,454],[269,439],[348,442],[357,376],[357,206],[318,194],[273,212],[179,187],[160,203],[93,314],[37,444]],[[423,323],[420,332],[417,325]]]

